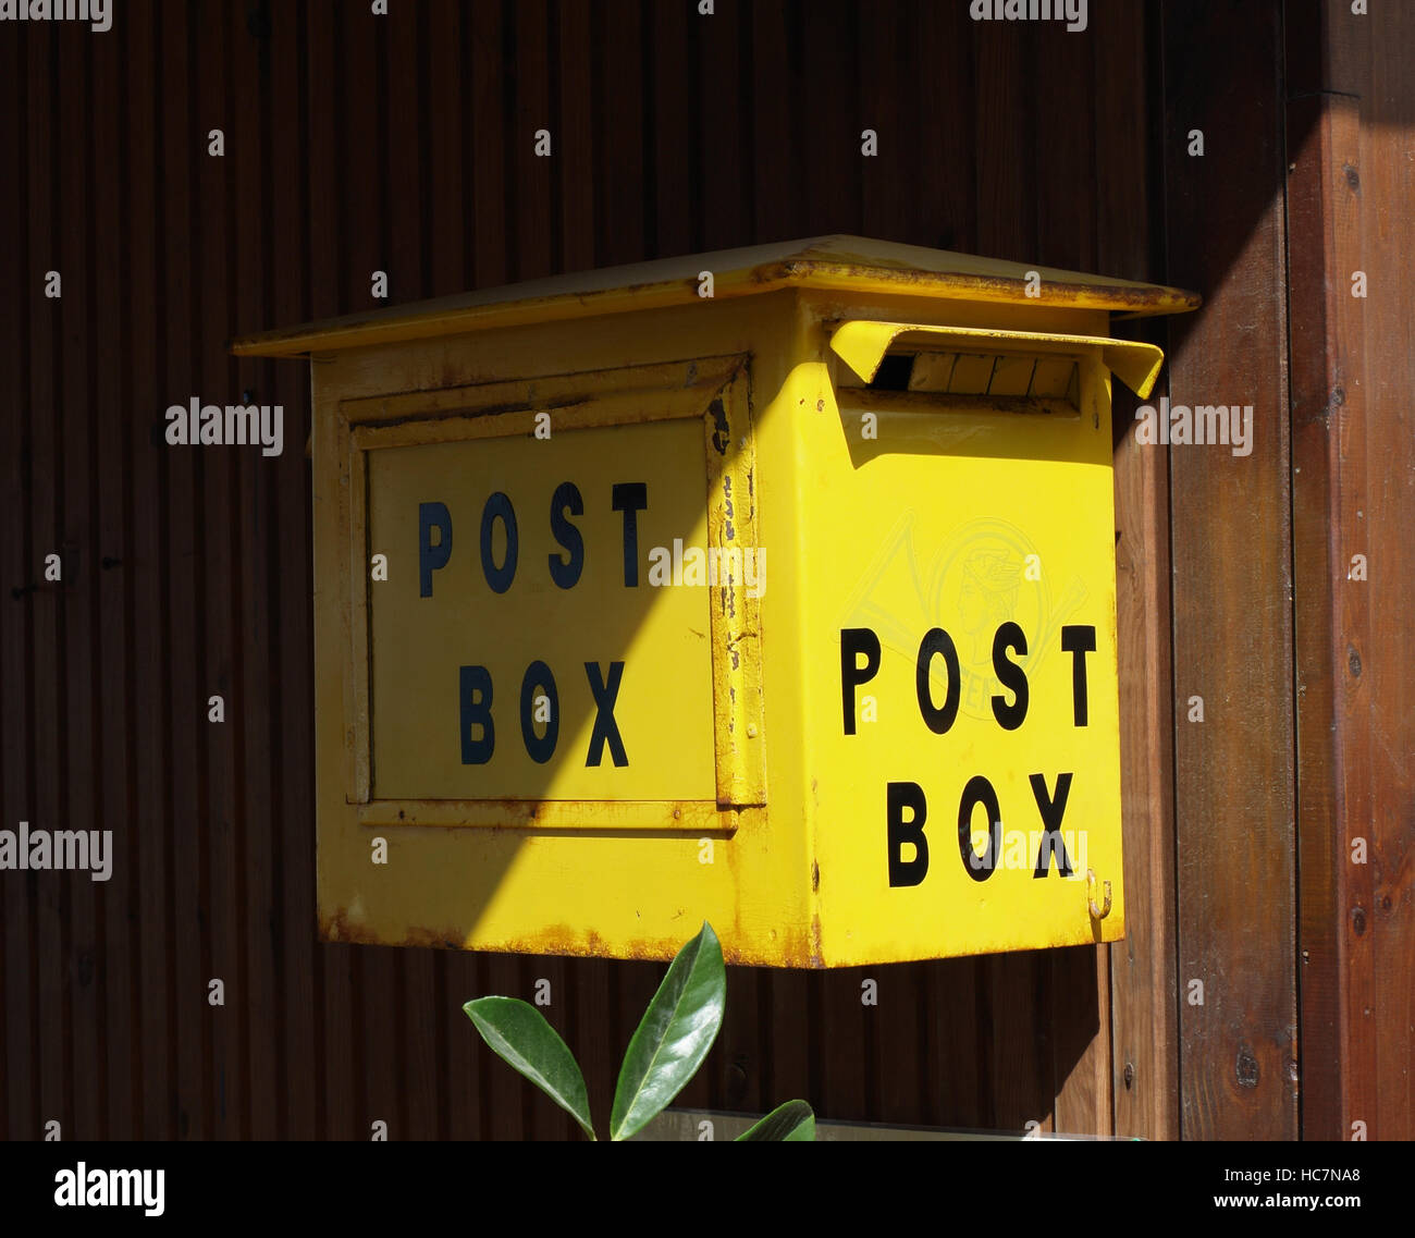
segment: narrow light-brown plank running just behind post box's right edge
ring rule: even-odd
[[[1160,166],[1148,149],[1148,116],[1136,106],[1135,82],[1146,64],[1145,27],[1140,10],[1112,6],[1095,31],[1097,265],[1125,279],[1157,274],[1149,269],[1153,233],[1146,202]],[[1146,108],[1162,102],[1157,95],[1139,95]],[[1138,168],[1145,174],[1138,175]],[[1116,330],[1125,328],[1116,324]],[[1153,341],[1163,342],[1163,337]],[[1135,441],[1138,403],[1124,386],[1114,385],[1126,921],[1124,945],[1107,951],[1111,1092],[1116,1135],[1177,1139],[1169,458]]]

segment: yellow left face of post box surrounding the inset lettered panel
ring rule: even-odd
[[[778,293],[723,306],[705,301],[683,310],[389,345],[316,361],[318,898],[325,938],[671,958],[709,920],[729,959],[812,964],[816,942],[809,920],[811,856],[801,770],[778,760],[774,744],[777,736],[801,736],[805,730],[799,598],[788,566],[798,555],[801,533],[799,444],[791,440],[778,403],[791,371],[794,297],[795,293]],[[744,378],[750,383],[756,426],[751,492],[737,495],[736,501],[754,504],[758,539],[767,550],[764,587],[757,598],[766,806],[743,809],[734,832],[614,831],[603,821],[593,831],[574,829],[573,823],[556,829],[361,825],[354,754],[357,730],[368,722],[358,719],[348,666],[355,658],[366,659],[368,651],[355,648],[358,625],[351,615],[352,604],[345,600],[351,597],[352,573],[368,573],[369,565],[362,562],[362,550],[352,545],[348,529],[348,485],[341,481],[341,460],[350,447],[338,432],[340,406],[371,396],[515,378],[533,385],[535,379],[553,375],[732,354],[750,354]],[[672,440],[666,434],[665,443],[654,450],[692,450]],[[570,436],[563,441],[569,443]],[[518,444],[532,460],[538,446],[545,446],[531,439]],[[698,458],[702,460],[700,446]],[[514,467],[521,468],[522,463],[518,457]],[[558,464],[562,471],[574,467],[569,456]],[[655,477],[647,478],[651,491]],[[658,480],[681,485],[682,470],[675,463]],[[491,478],[483,477],[480,482],[490,484]],[[389,494],[396,492],[393,485]],[[644,570],[649,549],[640,548]],[[416,576],[416,555],[405,552],[388,570]],[[366,587],[381,584],[371,582]],[[669,597],[683,604],[665,589],[662,598]],[[467,615],[470,624],[475,620],[474,614]],[[560,638],[573,617],[556,613],[555,620]],[[385,648],[393,648],[398,634],[379,632],[379,640]],[[661,729],[664,736],[672,736],[678,724],[674,668],[648,668],[644,678],[662,685]],[[519,683],[507,689],[512,706],[518,689]],[[378,707],[375,692],[369,709]],[[702,702],[696,707],[700,713]],[[381,719],[379,726],[383,724],[396,727],[398,719]],[[504,722],[498,719],[501,726],[509,737],[519,736],[515,710]],[[791,746],[780,747],[787,758]],[[700,792],[700,781],[695,778],[689,792]],[[376,787],[376,768],[372,782]],[[375,857],[383,862],[375,863]]]

